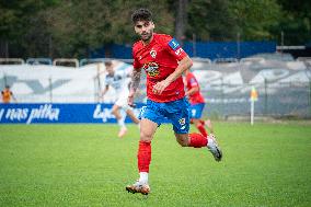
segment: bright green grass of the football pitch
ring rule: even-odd
[[[123,139],[116,125],[0,125],[0,206],[311,206],[310,126],[215,123],[217,163],[163,125],[146,197],[125,191],[138,177],[134,125]]]

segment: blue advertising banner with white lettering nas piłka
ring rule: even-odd
[[[0,124],[116,123],[113,104],[0,104]],[[143,104],[137,104],[138,116]],[[122,111],[123,115],[126,115]],[[126,117],[126,123],[131,123]]]

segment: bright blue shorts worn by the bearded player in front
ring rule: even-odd
[[[147,100],[147,105],[141,108],[139,118],[147,118],[159,126],[170,120],[176,134],[188,134],[189,115],[189,103],[185,97],[166,103]]]

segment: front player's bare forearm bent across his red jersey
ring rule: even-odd
[[[164,89],[171,84],[174,80],[180,78],[184,71],[188,70],[193,66],[193,61],[189,56],[185,56],[180,62],[176,70],[171,73],[165,80],[158,82],[153,87],[153,93],[161,94]]]

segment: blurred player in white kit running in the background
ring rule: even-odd
[[[123,108],[126,114],[131,118],[135,124],[139,124],[139,119],[135,116],[131,107],[127,104],[127,96],[129,94],[128,88],[128,78],[130,76],[129,72],[125,70],[115,70],[112,61],[105,62],[106,67],[106,87],[102,92],[102,97],[108,91],[110,87],[113,87],[116,91],[116,101],[113,105],[112,113],[116,117],[117,123],[119,125],[118,137],[122,138],[127,133],[127,127],[125,126],[125,117],[122,116],[119,110]]]

